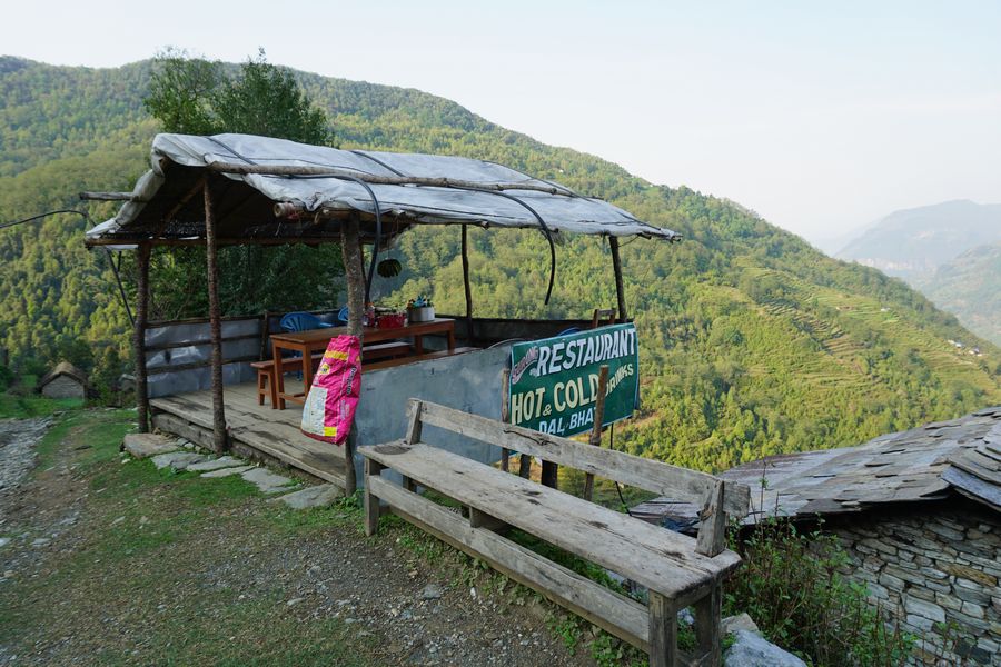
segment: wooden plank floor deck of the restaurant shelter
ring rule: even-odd
[[[226,424],[235,450],[249,449],[244,454],[277,459],[313,477],[344,487],[344,449],[304,436],[299,430],[303,418],[299,406],[289,405],[285,410],[272,410],[268,405],[257,405],[254,382],[227,386],[224,400]],[[211,447],[210,390],[156,398],[150,401],[150,407],[157,428]]]

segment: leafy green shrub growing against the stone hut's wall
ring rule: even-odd
[[[870,604],[864,586],[839,574],[848,556],[834,536],[772,519],[733,542],[744,564],[726,585],[727,615],[746,611],[771,641],[814,665],[905,661],[913,638]]]

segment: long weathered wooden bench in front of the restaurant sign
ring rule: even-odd
[[[438,449],[422,441],[424,425],[696,502],[703,508],[697,538]],[[740,564],[740,556],[724,548],[726,517],[746,514],[746,486],[417,399],[410,399],[402,440],[358,451],[365,457],[368,535],[378,528],[383,501],[394,514],[647,651],[653,666],[720,665],[722,581]],[[403,476],[402,487],[380,477],[386,468]],[[417,485],[465,506],[468,519],[417,494]],[[645,586],[648,607],[505,538],[496,531],[505,526]],[[677,613],[690,605],[697,649],[695,656],[682,656]]]

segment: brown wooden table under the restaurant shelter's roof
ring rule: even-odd
[[[303,356],[303,382],[305,385],[301,394],[285,392],[285,375],[276,372],[278,387],[278,409],[285,409],[285,401],[291,400],[299,404],[306,402],[306,395],[313,386],[313,352],[319,352],[327,349],[327,345],[335,336],[347,334],[347,327],[331,327],[326,329],[309,329],[307,331],[271,334],[271,358],[280,359],[281,350],[291,350]],[[428,322],[414,322],[406,327],[397,327],[395,329],[378,329],[376,327],[365,327],[361,329],[363,344],[383,342],[386,340],[395,340],[397,338],[413,338],[414,354],[424,354],[424,337],[427,335],[445,335],[448,338],[448,349],[455,349],[455,320],[446,318],[435,318]]]

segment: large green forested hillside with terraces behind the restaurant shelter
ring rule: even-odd
[[[0,219],[75,205],[85,185],[131,187],[155,132],[141,106],[148,68],[0,59]],[[642,341],[644,408],[617,429],[616,446],[717,469],[762,454],[854,444],[1001,402],[995,347],[903,282],[829,259],[733,203],[652,186],[419,91],[313,74],[300,80],[344,148],[495,160],[685,236],[680,245],[638,239],[623,248],[626,298]],[[614,132],[614,123],[602,131]],[[82,249],[81,229],[59,217],[0,231],[0,346],[12,361],[52,357],[52,341],[127,350],[128,325],[112,282],[101,256]],[[470,237],[477,315],[586,316],[614,305],[607,248],[596,240],[557,248],[557,286],[546,307],[541,237],[495,230]],[[386,300],[430,293],[439,311],[462,310],[457,230],[408,232],[388,253],[404,272],[380,286]],[[984,356],[947,342],[958,338],[977,341]]]

